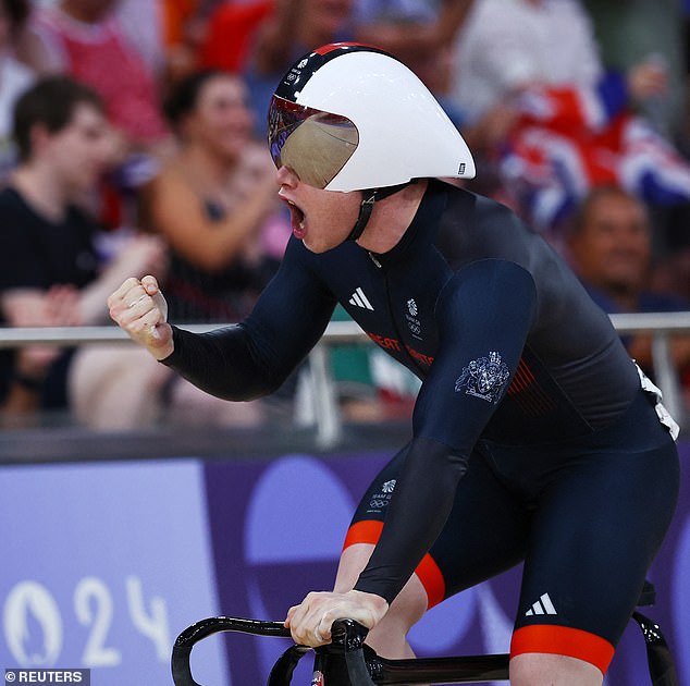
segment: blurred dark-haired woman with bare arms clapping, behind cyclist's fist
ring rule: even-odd
[[[143,217],[170,246],[169,316],[238,321],[275,273],[289,237],[275,168],[266,146],[251,138],[254,117],[239,76],[197,72],[174,87],[165,111],[180,149],[146,188]],[[250,413],[260,407],[219,403],[184,381],[170,392],[177,394],[174,406],[178,394],[196,394],[226,420],[231,413],[256,419]]]

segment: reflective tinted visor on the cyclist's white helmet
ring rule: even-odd
[[[359,143],[355,124],[273,96],[269,108],[269,149],[278,169],[289,167],[303,183],[325,188]]]

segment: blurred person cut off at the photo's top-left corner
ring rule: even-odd
[[[35,81],[34,71],[15,57],[15,40],[28,17],[28,0],[0,1],[0,182],[16,162],[12,145],[14,102]]]

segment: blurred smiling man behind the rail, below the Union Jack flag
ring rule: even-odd
[[[592,298],[609,314],[690,310],[682,298],[650,289],[652,237],[645,206],[618,187],[593,191],[578,208],[568,234],[576,273]],[[624,339],[638,364],[653,376],[650,334]],[[671,354],[690,381],[690,334],[675,336]],[[690,388],[690,387],[689,387]]]

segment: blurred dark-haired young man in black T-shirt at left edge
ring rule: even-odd
[[[132,272],[161,273],[164,252],[153,237],[133,237],[106,262],[99,226],[79,207],[113,156],[102,101],[63,76],[39,81],[19,100],[14,136],[20,164],[0,193],[0,316],[9,326],[75,326],[108,321],[106,298]],[[0,397],[8,416],[34,409],[77,407],[79,387],[69,391],[81,352],[37,346],[4,352]],[[148,364],[120,347],[110,362]],[[106,387],[112,367],[90,370],[89,383]],[[136,372],[137,365],[133,366]],[[130,375],[131,377],[134,375]],[[136,379],[135,379],[136,380]],[[149,390],[134,385],[114,407],[145,413]],[[135,406],[127,404],[132,401]]]

